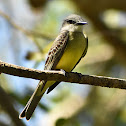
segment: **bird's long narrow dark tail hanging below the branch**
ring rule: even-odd
[[[39,82],[36,90],[34,91],[31,98],[27,102],[25,108],[23,109],[23,111],[19,115],[20,119],[26,117],[26,119],[29,120],[31,118],[37,104],[39,103],[41,97],[43,96],[43,94],[45,92],[43,90],[45,83],[46,83],[45,81]]]

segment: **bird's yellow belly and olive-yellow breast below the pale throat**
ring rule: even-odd
[[[70,35],[66,49],[64,50],[56,69],[63,69],[70,72],[82,56],[85,48],[86,39],[82,33],[73,33]]]

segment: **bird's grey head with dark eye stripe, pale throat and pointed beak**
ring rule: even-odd
[[[81,16],[71,14],[64,19],[61,30],[82,32],[85,24],[87,24],[87,22],[85,22]]]

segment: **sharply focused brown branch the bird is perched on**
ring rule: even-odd
[[[109,88],[119,88],[126,89],[126,80],[104,77],[104,76],[95,76],[95,75],[82,75],[75,72],[64,72],[63,71],[54,71],[54,70],[36,70],[29,69],[26,67],[21,67],[13,64],[8,64],[0,61],[0,72],[6,73],[14,76],[32,78],[37,80],[54,80],[54,81],[64,81],[71,83],[79,84],[88,84],[94,86],[102,86]]]

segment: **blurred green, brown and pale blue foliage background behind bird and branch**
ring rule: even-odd
[[[63,19],[81,15],[89,48],[74,69],[126,79],[125,0],[0,0],[0,60],[44,68]],[[37,80],[0,75],[0,126],[125,126],[126,91],[61,83],[45,94],[30,121],[18,115]]]

